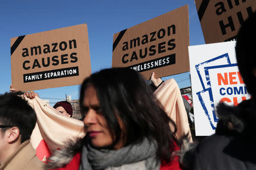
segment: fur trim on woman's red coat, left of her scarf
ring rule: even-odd
[[[61,150],[56,150],[53,154],[47,159],[47,164],[45,169],[54,169],[60,168],[67,165],[73,157],[82,150],[82,143],[84,139],[75,139],[69,140],[66,142],[66,145]]]

